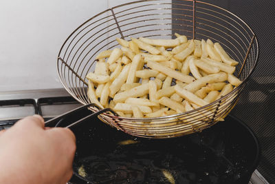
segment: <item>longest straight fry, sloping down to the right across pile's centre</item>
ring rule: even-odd
[[[170,69],[170,68],[168,68],[164,65],[161,65],[161,64],[159,64],[155,61],[148,61],[147,66],[150,67],[153,70],[157,70],[159,72],[162,72],[162,73],[166,74],[167,76],[175,78],[175,79],[177,79],[179,81],[182,81],[184,83],[192,83],[192,81],[195,81],[195,79],[192,76],[182,74],[181,72]]]

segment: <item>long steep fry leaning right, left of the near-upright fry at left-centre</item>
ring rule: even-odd
[[[123,83],[125,83],[128,73],[129,73],[129,70],[130,70],[130,67],[131,67],[131,64],[125,65],[124,68],[122,69],[122,72],[120,72],[118,77],[115,78],[115,80],[113,80],[113,83],[111,83],[111,85],[110,85],[110,96],[111,97],[113,97],[115,95],[115,93],[120,90]]]

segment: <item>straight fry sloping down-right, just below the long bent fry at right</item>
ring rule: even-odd
[[[181,88],[179,85],[175,85],[175,92],[179,94],[182,98],[195,103],[199,106],[207,105],[208,103],[206,101],[203,101],[203,99],[199,98],[192,92],[189,92],[188,90],[184,90],[184,88]]]

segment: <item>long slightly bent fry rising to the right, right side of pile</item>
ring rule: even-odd
[[[228,75],[225,72],[219,72],[217,74],[210,74],[208,76],[203,76],[201,79],[189,83],[184,87],[184,89],[195,92],[199,90],[201,87],[205,86],[207,83],[219,83],[224,82],[227,79]]]

